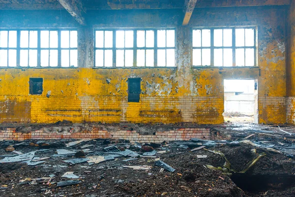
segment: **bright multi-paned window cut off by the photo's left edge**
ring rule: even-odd
[[[0,30],[0,67],[77,67],[76,30]]]

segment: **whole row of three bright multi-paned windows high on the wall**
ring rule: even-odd
[[[175,29],[95,31],[95,67],[175,67]],[[255,66],[254,28],[193,29],[193,66]],[[0,67],[77,67],[77,30],[0,30]]]

